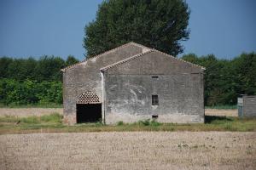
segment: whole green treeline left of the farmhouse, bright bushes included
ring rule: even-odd
[[[55,56],[40,59],[0,58],[0,104],[62,104],[61,69],[79,62]]]

